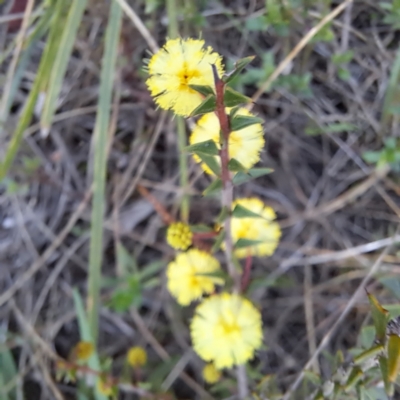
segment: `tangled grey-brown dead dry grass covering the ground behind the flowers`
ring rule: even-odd
[[[207,4],[202,35],[227,59],[255,54],[260,66],[266,51],[283,60],[308,29],[320,19],[318,7],[293,19],[291,34],[248,31],[245,22],[262,14],[262,1]],[[165,10],[150,15],[143,4],[130,2],[149,26],[157,44],[166,35]],[[90,222],[91,147],[98,96],[102,38],[107,7],[88,9],[84,26],[63,82],[56,120],[47,138],[33,120],[11,170],[23,187],[16,194],[0,194],[0,332],[8,332],[27,399],[76,398],[74,388],[55,382],[49,354],[66,357],[79,340],[72,288],[85,293]],[[322,12],[322,11],[321,11]],[[237,189],[238,195],[256,195],[279,214],[283,239],[273,257],[254,261],[259,280],[253,298],[263,310],[268,349],[255,363],[263,374],[276,374],[288,388],[329,332],[368,274],[379,254],[391,242],[400,221],[398,175],[389,168],[376,171],[361,155],[382,147],[382,140],[398,136],[398,120],[382,119],[391,67],[398,48],[398,32],[372,18],[380,15],[373,2],[359,1],[346,8],[333,24],[330,42],[308,43],[285,73],[310,73],[312,96],[302,97],[276,86],[262,94],[254,111],[265,120],[263,166],[274,173]],[[7,31],[0,17],[0,51],[18,31]],[[186,35],[199,27],[182,22]],[[156,111],[141,71],[148,44],[129,18],[124,18],[120,66],[116,80],[120,102],[114,105],[116,134],[110,145],[107,169],[106,225],[103,263],[105,277],[116,276],[115,242],[121,241],[139,265],[169,260],[173,252],[163,238],[164,225],[137,185],[147,188],[176,215],[182,191],[174,120]],[[348,69],[351,78],[337,76],[332,54],[354,51]],[[38,46],[6,121],[13,131],[21,105],[30,90],[42,51]],[[0,79],[9,65],[1,66]],[[247,85],[253,95],[255,85]],[[306,128],[331,123],[353,124],[342,133],[306,135]],[[40,167],[31,173],[23,157],[35,157]],[[218,211],[214,200],[201,198],[209,180],[190,163],[191,222],[211,222]],[[399,240],[397,236],[397,240]],[[395,251],[384,255],[381,276],[398,279]],[[147,345],[150,365],[174,357],[174,368],[164,381],[177,398],[204,396],[197,357],[190,350],[187,318],[160,285],[146,289],[138,311],[118,314],[106,307],[110,288],[102,292],[100,349],[121,368],[126,350]],[[382,302],[395,298],[379,280],[368,290]],[[355,344],[366,323],[368,302],[359,296],[354,307],[330,337],[326,349],[346,350]],[[42,341],[42,342],[41,342]],[[327,364],[314,362],[315,371],[328,374]],[[150,372],[150,371],[149,371]],[[126,395],[124,398],[132,398]]]

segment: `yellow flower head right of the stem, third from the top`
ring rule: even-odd
[[[252,256],[270,256],[274,253],[281,237],[281,229],[277,222],[275,211],[257,198],[238,199],[233,202],[233,208],[239,204],[242,207],[261,215],[260,218],[232,218],[232,239],[236,243],[239,239],[260,240],[262,243],[242,247],[235,250],[238,258]]]

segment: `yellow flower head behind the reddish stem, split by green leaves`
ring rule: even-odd
[[[252,114],[245,108],[241,108],[237,115],[252,116]],[[203,115],[197,122],[195,128],[190,136],[190,144],[205,142],[213,140],[217,147],[220,148],[219,143],[219,121],[214,113]],[[261,124],[250,125],[239,131],[233,131],[229,135],[229,157],[235,158],[245,168],[251,168],[260,160],[260,152],[264,147],[264,133]],[[196,162],[201,162],[198,156],[194,156]],[[219,161],[219,158],[216,157]],[[208,174],[213,174],[210,168],[204,163],[201,164],[202,168]]]

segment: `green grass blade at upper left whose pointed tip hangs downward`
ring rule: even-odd
[[[69,9],[66,23],[63,26],[57,54],[50,73],[46,101],[40,119],[42,134],[44,135],[47,135],[50,129],[54,113],[57,109],[57,99],[61,91],[62,81],[67,70],[68,61],[86,4],[87,0],[74,0]]]

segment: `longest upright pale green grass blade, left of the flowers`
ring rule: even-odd
[[[101,263],[103,258],[104,193],[107,164],[108,129],[115,65],[121,30],[122,10],[111,3],[100,75],[99,102],[94,128],[93,206],[88,279],[88,317],[94,343],[97,342]]]

